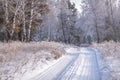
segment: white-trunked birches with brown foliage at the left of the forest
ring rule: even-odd
[[[46,0],[0,0],[0,30],[3,40],[30,40],[31,30],[42,23]]]

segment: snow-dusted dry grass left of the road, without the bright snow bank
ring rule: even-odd
[[[54,60],[65,54],[64,44],[56,42],[10,42],[0,43],[0,80],[14,80],[23,66],[35,67],[42,60]]]

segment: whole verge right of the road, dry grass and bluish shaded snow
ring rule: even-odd
[[[94,43],[92,46],[102,53],[108,68],[106,70],[110,70],[110,80],[120,80],[120,43],[110,41]]]

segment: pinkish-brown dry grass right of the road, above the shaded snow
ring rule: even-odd
[[[103,58],[112,56],[115,59],[120,59],[120,42],[94,43],[92,46],[102,51],[102,55],[104,55]]]

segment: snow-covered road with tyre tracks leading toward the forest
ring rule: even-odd
[[[67,53],[31,80],[101,80],[96,52],[91,48],[81,48],[75,53]]]

